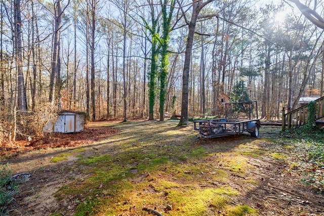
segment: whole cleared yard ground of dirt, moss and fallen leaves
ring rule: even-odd
[[[89,123],[76,134],[3,147],[29,173],[9,215],[324,215],[280,128],[196,140],[178,121]]]

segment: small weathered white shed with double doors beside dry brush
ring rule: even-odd
[[[44,131],[51,132],[60,132],[60,133],[75,133],[84,130],[86,123],[86,114],[76,111],[60,111],[58,118],[53,124],[52,121],[49,121],[45,127]]]

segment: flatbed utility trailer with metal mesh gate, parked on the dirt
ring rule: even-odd
[[[239,117],[233,115],[236,111],[246,114],[248,119],[233,120],[233,117]],[[193,121],[194,130],[199,131],[197,138],[204,138],[206,141],[208,138],[236,135],[243,132],[248,132],[252,137],[257,138],[260,125],[257,101],[226,103],[225,118]]]

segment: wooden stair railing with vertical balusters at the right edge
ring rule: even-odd
[[[315,100],[316,102],[316,120],[324,117],[324,96]],[[285,113],[285,107],[282,109],[282,130],[287,128],[300,127],[307,123],[308,105],[298,107],[289,113]]]

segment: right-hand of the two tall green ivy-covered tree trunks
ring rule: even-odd
[[[171,31],[171,19],[173,15],[175,0],[172,0],[170,3],[170,11],[169,14],[167,12],[167,5],[169,4],[168,0],[160,1],[162,7],[162,19],[163,19],[163,35],[161,38],[161,70],[160,70],[160,101],[159,101],[159,114],[160,121],[164,121],[164,107],[166,101],[167,94],[167,78],[169,72],[169,42],[170,42],[170,31]]]

